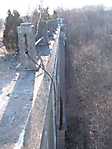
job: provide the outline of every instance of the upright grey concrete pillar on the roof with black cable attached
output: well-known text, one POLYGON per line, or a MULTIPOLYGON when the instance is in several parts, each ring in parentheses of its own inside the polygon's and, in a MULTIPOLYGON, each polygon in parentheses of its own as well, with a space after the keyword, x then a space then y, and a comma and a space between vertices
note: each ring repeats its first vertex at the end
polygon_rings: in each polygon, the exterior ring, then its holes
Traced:
POLYGON ((18 27, 18 47, 19 47, 19 60, 22 66, 26 69, 35 70, 36 66, 32 60, 25 54, 25 35, 27 38, 27 50, 29 55, 36 60, 35 49, 35 30, 31 23, 21 23, 18 27))

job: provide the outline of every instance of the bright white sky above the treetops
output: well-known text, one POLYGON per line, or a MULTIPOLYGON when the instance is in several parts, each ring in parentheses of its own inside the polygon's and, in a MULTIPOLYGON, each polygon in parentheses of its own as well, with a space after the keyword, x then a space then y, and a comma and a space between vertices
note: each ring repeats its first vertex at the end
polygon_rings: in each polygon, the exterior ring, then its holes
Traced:
POLYGON ((31 13, 41 2, 44 6, 55 9, 57 7, 63 8, 81 8, 86 5, 104 5, 112 7, 112 0, 0 0, 0 18, 5 18, 8 9, 17 9, 21 15, 31 13))

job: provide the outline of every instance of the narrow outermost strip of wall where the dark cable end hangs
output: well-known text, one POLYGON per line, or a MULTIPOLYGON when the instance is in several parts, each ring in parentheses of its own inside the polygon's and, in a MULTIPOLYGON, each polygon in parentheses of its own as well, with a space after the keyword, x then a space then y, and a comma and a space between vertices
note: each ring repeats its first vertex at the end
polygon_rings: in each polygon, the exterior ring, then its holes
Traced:
POLYGON ((57 55, 57 126, 59 128, 57 129, 57 148, 65 149, 65 33, 63 31, 60 32, 59 50, 57 55))

